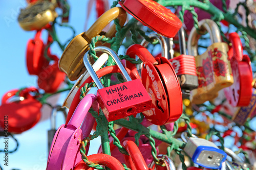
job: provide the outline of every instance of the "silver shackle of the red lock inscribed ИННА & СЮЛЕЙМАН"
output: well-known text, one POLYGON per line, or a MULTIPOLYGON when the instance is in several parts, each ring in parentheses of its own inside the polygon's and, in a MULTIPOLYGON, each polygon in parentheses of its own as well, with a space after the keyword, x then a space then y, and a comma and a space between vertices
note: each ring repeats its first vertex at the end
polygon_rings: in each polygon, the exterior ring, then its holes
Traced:
MULTIPOLYGON (((116 62, 116 65, 119 67, 120 72, 122 73, 124 79, 126 81, 132 81, 130 75, 128 74, 128 72, 126 71, 124 66, 122 65, 122 62, 121 62, 120 58, 118 57, 118 55, 116 54, 116 52, 114 52, 111 48, 106 47, 106 46, 97 46, 94 48, 94 50, 95 50, 95 52, 102 52, 102 53, 106 53, 106 54, 110 55, 113 58, 113 60, 116 62)), ((102 88, 104 88, 104 86, 101 83, 95 70, 93 69, 91 62, 89 61, 89 57, 90 56, 89 56, 89 51, 88 51, 83 56, 83 63, 86 66, 86 69, 88 70, 89 74, 91 75, 91 77, 92 77, 94 83, 96 84, 96 86, 98 87, 98 89, 102 89, 102 88)))

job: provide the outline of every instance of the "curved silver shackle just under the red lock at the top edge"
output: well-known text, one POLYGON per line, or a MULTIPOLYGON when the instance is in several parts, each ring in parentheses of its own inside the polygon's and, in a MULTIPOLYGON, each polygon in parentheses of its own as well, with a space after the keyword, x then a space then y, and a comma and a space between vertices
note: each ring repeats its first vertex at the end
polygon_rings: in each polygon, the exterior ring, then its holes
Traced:
MULTIPOLYGON (((153 33, 153 34, 148 35, 148 37, 150 37, 151 39, 157 39, 159 41, 159 43, 161 45, 162 57, 165 57, 168 59, 168 45, 167 45, 167 42, 166 42, 164 36, 162 36, 160 34, 153 33)), ((147 47, 147 45, 149 43, 150 42, 146 41, 146 39, 143 39, 140 44, 144 47, 147 47)))

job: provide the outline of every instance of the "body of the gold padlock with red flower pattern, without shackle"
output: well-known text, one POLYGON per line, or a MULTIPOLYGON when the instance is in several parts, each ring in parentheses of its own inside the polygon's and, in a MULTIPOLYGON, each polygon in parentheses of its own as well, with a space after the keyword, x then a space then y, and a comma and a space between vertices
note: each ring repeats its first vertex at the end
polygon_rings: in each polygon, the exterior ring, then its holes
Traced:
POLYGON ((202 104, 218 96, 218 91, 232 85, 233 76, 227 58, 228 45, 217 42, 202 55, 196 56, 198 88, 191 91, 190 100, 202 104))

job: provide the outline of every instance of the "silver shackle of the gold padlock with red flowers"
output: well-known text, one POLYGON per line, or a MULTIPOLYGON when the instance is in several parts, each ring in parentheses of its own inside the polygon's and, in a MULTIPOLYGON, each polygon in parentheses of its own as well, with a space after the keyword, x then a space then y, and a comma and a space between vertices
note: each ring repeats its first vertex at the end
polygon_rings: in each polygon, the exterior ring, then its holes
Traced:
MULTIPOLYGON (((198 23, 201 31, 207 31, 210 34, 211 44, 221 42, 221 33, 217 23, 211 19, 203 19, 198 23)), ((197 33, 197 29, 194 27, 188 36, 187 40, 187 52, 190 56, 198 56, 198 40, 200 34, 197 33)))

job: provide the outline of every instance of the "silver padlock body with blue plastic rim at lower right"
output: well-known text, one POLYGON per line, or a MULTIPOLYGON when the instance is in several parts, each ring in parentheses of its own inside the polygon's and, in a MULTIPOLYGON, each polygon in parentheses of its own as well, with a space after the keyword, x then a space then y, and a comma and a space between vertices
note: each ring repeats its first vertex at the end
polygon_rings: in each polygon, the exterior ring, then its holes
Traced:
POLYGON ((195 137, 188 138, 183 151, 194 163, 212 169, 220 168, 227 157, 227 154, 213 142, 195 137))

